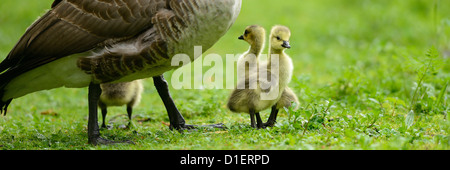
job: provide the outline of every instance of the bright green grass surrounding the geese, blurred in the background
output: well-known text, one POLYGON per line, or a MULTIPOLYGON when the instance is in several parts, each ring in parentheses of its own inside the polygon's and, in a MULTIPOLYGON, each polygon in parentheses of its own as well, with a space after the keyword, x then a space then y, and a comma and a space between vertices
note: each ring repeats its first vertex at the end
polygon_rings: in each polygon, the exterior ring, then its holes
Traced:
MULTIPOLYGON (((252 129, 248 115, 227 110, 230 90, 171 89, 188 123, 222 122, 229 129, 170 131, 148 79, 134 127, 119 128, 127 123, 125 108, 112 108, 108 120, 114 128, 101 131, 136 145, 87 144, 87 89, 61 88, 14 100, 0 117, 0 149, 450 148, 450 1, 243 1, 236 24, 207 53, 246 51, 237 37, 247 25, 291 28, 293 48, 287 53, 295 73, 289 86, 301 109, 282 111, 276 127, 252 129)), ((0 58, 50 5, 51 0, 1 2, 0 58)), ((165 74, 168 80, 171 74, 165 74)))

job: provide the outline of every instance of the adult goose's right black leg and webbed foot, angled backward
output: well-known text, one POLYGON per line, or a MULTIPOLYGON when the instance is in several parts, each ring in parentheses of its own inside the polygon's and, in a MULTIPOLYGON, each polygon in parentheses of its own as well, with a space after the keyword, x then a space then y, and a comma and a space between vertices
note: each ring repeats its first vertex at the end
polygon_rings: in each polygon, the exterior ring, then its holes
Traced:
POLYGON ((196 127, 213 127, 219 129, 225 129, 226 127, 223 124, 215 124, 215 125, 186 125, 186 121, 181 115, 180 111, 178 111, 177 106, 173 102, 173 99, 169 92, 169 85, 167 81, 164 79, 163 75, 153 77, 153 83, 155 84, 156 90, 158 91, 159 96, 161 97, 164 106, 166 107, 167 114, 169 115, 170 120, 170 129, 177 130, 186 130, 186 129, 195 129, 196 127))

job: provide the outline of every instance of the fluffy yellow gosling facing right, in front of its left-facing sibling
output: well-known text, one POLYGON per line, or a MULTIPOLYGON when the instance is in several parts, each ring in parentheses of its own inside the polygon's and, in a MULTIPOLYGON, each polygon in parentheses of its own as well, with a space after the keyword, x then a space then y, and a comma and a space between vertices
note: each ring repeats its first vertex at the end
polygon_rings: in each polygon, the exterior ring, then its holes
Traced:
POLYGON ((290 48, 290 36, 291 32, 285 26, 275 26, 272 28, 270 35, 270 54, 278 56, 278 58, 274 58, 274 61, 272 61, 273 56, 270 55, 268 62, 263 64, 262 67, 259 67, 259 69, 263 70, 259 72, 271 75, 272 82, 261 79, 258 71, 250 72, 245 81, 238 82, 238 87, 239 85, 242 87, 242 84, 245 84, 245 88, 236 88, 228 100, 227 106, 232 112, 245 112, 250 114, 251 126, 254 128, 265 128, 268 125, 268 123, 262 123, 259 112, 270 107, 276 107, 287 84, 291 81, 293 64, 291 58, 284 52, 285 49, 290 48), (272 62, 277 62, 274 64, 275 67, 272 67, 272 62), (251 79, 256 79, 257 86, 255 89, 248 88, 251 79), (263 89, 261 88, 262 86, 269 88, 263 89), (271 99, 265 99, 261 98, 263 93, 271 93, 276 96, 271 99), (257 119, 256 123, 255 116, 257 119))

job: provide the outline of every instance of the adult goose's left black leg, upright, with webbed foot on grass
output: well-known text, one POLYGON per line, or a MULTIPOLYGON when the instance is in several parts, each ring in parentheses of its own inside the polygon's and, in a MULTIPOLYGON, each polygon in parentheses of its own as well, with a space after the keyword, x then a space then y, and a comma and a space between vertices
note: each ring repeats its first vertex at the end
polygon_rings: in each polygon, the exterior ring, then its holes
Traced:
POLYGON ((116 143, 133 143, 131 141, 110 141, 100 137, 100 129, 98 128, 98 101, 102 89, 99 84, 91 83, 89 85, 89 121, 88 121, 88 142, 93 145, 99 144, 116 144, 116 143))

